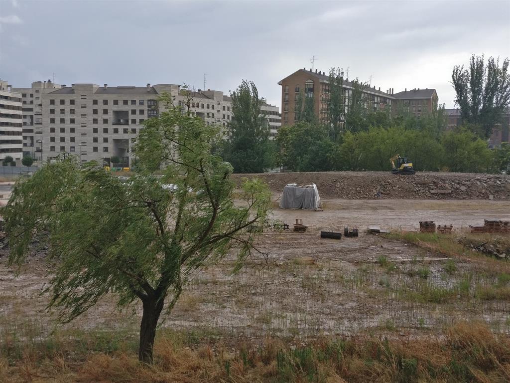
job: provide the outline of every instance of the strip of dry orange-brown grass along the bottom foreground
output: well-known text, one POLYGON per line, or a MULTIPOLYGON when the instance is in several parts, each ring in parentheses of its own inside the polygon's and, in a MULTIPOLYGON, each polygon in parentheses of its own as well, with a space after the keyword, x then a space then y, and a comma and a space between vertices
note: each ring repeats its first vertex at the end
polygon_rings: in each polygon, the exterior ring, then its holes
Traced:
MULTIPOLYGON (((93 336, 93 334, 90 334, 93 336)), ((476 323, 457 323, 444 339, 329 338, 291 345, 283 339, 242 343, 160 334, 155 364, 138 363, 133 349, 90 352, 77 344, 59 350, 28 348, 16 360, 0 355, 0 381, 201 382, 507 382, 510 338, 476 323), (262 342, 262 343, 260 343, 262 342)), ((292 342, 292 341, 291 341, 292 342)))

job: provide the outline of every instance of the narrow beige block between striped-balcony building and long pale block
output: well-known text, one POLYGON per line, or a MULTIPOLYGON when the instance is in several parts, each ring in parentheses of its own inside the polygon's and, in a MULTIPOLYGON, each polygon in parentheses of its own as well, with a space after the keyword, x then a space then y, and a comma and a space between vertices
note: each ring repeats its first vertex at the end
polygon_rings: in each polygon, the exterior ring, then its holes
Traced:
POLYGON ((23 111, 23 156, 41 160, 42 139, 42 94, 52 92, 61 86, 52 80, 33 82, 30 88, 13 88, 21 93, 23 111))

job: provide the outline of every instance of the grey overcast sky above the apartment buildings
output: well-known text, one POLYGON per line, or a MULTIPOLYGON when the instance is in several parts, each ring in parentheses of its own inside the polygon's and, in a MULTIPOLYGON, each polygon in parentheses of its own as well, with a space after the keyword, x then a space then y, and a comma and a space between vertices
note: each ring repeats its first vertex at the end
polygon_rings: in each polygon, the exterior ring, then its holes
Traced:
MULTIPOLYGON (((175 2, 0 0, 0 78, 13 86, 187 83, 228 94, 242 79, 281 106, 295 70, 349 67, 395 92, 436 88, 453 107, 455 64, 510 56, 510 1, 175 2)), ((501 59, 502 60, 502 59, 501 59)))

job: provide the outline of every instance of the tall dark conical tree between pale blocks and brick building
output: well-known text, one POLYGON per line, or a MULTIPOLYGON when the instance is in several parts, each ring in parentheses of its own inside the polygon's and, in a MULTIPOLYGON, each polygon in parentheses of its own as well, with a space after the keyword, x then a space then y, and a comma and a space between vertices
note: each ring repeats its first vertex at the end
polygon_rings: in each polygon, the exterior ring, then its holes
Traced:
POLYGON ((273 165, 269 123, 261 109, 264 102, 252 81, 243 80, 232 93, 234 117, 223 157, 232 163, 235 173, 263 173, 273 165))

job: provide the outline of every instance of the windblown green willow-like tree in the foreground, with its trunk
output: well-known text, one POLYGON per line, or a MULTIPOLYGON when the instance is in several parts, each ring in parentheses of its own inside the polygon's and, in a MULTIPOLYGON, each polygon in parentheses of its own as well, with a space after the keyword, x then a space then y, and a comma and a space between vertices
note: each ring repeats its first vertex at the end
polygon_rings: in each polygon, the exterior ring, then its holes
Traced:
MULTIPOLYGON (((169 95, 162 101, 169 105, 169 95)), ((134 148, 140 173, 129 183, 69 156, 18 181, 3 216, 10 264, 23 264, 34 237, 48 243, 55 275, 49 307, 60 309, 61 321, 108 292, 119 306, 139 299, 139 359, 151 363, 160 316, 170 312, 190 273, 233 245, 240 267, 263 228, 271 195, 259 180, 246 180, 242 202, 234 204, 232 165, 211 154, 219 127, 170 106, 144 125, 134 148), (153 172, 164 163, 159 179, 153 172)))

